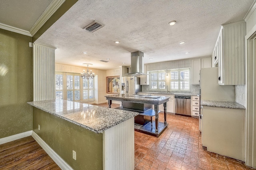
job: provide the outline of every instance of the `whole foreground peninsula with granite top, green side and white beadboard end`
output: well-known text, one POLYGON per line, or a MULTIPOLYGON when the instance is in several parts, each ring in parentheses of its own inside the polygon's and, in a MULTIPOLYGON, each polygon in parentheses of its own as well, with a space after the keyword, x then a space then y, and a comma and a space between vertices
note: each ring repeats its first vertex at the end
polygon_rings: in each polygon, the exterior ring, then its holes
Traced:
POLYGON ((137 112, 67 100, 28 104, 33 106, 32 136, 44 150, 52 150, 46 152, 54 161, 63 161, 58 164, 61 169, 134 170, 137 112))

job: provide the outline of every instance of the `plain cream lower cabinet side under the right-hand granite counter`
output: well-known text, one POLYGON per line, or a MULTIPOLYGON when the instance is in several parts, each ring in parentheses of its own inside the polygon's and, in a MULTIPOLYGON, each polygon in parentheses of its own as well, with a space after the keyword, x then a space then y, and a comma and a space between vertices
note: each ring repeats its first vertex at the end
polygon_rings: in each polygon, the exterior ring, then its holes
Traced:
POLYGON ((203 106, 201 139, 207 150, 245 160, 245 110, 203 106))

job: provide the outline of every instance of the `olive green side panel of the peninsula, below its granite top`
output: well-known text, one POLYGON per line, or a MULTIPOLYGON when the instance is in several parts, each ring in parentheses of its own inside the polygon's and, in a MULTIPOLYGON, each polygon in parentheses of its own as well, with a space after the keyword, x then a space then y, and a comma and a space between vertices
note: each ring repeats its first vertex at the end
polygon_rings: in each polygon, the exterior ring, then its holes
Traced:
POLYGON ((36 107, 33 107, 33 131, 74 170, 103 169, 102 133, 94 133, 36 107), (76 151, 76 160, 72 158, 72 150, 76 151))

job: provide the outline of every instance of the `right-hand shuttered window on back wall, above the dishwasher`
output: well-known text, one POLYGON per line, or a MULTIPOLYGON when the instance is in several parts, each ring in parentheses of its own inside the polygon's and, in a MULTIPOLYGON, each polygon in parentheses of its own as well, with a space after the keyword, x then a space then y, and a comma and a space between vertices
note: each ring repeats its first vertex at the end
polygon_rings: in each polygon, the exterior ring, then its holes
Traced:
POLYGON ((189 91, 190 90, 190 68, 170 70, 170 90, 189 91))

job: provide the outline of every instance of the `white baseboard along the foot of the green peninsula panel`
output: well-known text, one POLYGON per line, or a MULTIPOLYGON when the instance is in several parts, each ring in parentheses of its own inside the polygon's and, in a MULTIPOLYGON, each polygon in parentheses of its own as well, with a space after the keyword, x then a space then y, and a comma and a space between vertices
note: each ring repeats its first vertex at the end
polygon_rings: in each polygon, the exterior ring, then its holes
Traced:
POLYGON ((67 162, 65 162, 65 160, 63 160, 54 150, 52 150, 49 145, 47 145, 34 131, 32 131, 32 137, 52 158, 52 160, 60 167, 60 169, 73 170, 72 167, 67 162))

